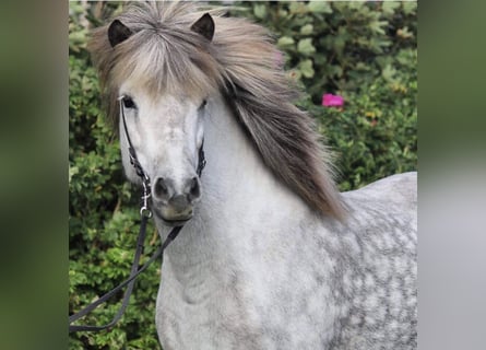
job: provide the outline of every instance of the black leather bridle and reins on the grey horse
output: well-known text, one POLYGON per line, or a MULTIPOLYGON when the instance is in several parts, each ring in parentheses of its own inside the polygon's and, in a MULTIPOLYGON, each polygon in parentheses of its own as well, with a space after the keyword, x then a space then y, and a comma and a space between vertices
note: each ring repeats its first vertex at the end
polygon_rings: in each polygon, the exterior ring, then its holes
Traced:
MULTIPOLYGON (((83 331, 83 330, 84 331, 99 331, 99 330, 104 330, 104 329, 115 326, 115 324, 121 318, 125 310, 128 306, 130 295, 133 291, 133 285, 135 283, 137 277, 139 277, 140 273, 145 271, 149 268, 149 266, 153 261, 155 261, 155 259, 157 259, 158 257, 161 257, 161 259, 162 259, 162 261, 161 261, 161 266, 162 266, 162 264, 164 262, 164 249, 170 244, 170 242, 173 242, 177 237, 177 235, 179 234, 180 230, 182 230, 182 226, 183 226, 183 225, 180 225, 180 226, 174 228, 170 231, 170 233, 168 234, 167 238, 165 238, 162 246, 158 247, 158 249, 151 256, 151 258, 139 269, 140 256, 142 255, 143 243, 145 241, 146 222, 150 218, 152 218, 152 211, 149 208, 149 199, 151 197, 151 179, 150 179, 149 175, 145 173, 145 171, 143 170, 142 165, 140 164, 139 159, 137 158, 135 149, 133 148, 133 144, 130 140, 130 135, 128 132, 127 121, 125 118, 125 109, 123 109, 123 104, 122 104, 123 97, 125 96, 118 97, 118 101, 120 102, 120 110, 121 110, 121 117, 122 117, 122 121, 123 121, 123 129, 125 129, 125 135, 126 135, 127 141, 128 141, 128 152, 130 155, 130 164, 132 164, 132 166, 135 168, 137 175, 140 176, 140 178, 142 180, 142 187, 143 187, 142 205, 140 208, 140 217, 142 219, 142 222, 140 224, 139 237, 137 238, 135 255, 133 257, 133 262, 132 262, 132 267, 130 270, 130 277, 128 279, 122 281, 120 284, 118 284, 112 290, 110 290, 109 292, 107 292, 106 294, 100 296, 95 302, 88 304, 87 306, 85 306, 84 308, 79 311, 78 313, 69 316, 69 332, 83 331), (127 287, 127 290, 125 291, 123 301, 121 303, 121 306, 110 323, 103 325, 103 326, 87 326, 87 325, 74 326, 74 325, 71 325, 73 322, 75 322, 75 320, 80 319, 81 317, 91 313, 98 305, 105 303, 108 299, 110 299, 112 295, 115 295, 115 293, 117 293, 120 289, 122 289, 126 285, 128 285, 128 287, 127 287)), ((199 154, 198 154, 199 161, 198 161, 198 168, 195 170, 195 172, 198 173, 199 177, 201 177, 202 170, 206 165, 203 145, 204 145, 204 140, 201 143, 201 147, 199 149, 199 154)))

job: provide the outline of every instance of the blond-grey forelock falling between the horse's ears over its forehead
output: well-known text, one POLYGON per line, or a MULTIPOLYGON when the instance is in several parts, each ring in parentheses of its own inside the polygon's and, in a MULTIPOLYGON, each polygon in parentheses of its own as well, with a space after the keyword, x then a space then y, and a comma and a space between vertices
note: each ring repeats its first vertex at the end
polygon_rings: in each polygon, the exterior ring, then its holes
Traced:
POLYGON ((166 92, 204 95, 218 90, 224 73, 208 39, 191 31, 201 13, 188 2, 134 2, 116 16, 132 32, 126 40, 111 47, 109 24, 93 31, 88 49, 114 126, 119 117, 118 90, 127 80, 145 86, 154 97, 166 92))

